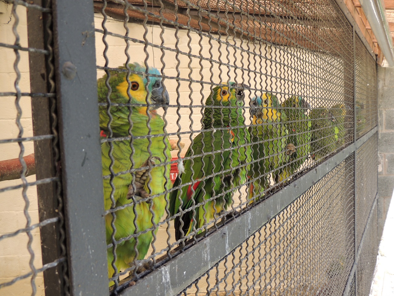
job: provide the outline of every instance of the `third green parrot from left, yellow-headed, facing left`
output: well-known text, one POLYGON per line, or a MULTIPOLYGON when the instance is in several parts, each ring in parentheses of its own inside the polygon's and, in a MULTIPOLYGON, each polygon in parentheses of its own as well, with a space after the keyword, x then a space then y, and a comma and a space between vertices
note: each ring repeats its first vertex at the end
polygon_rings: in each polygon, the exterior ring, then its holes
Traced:
POLYGON ((279 109, 281 104, 277 97, 265 92, 251 100, 251 116, 253 126, 249 127, 251 135, 254 163, 249 176, 248 198, 253 201, 264 195, 269 185, 269 172, 273 176, 279 174, 279 167, 289 159, 294 144, 288 144, 288 130, 285 122, 286 114, 279 109), (259 141, 263 141, 258 143, 259 141))

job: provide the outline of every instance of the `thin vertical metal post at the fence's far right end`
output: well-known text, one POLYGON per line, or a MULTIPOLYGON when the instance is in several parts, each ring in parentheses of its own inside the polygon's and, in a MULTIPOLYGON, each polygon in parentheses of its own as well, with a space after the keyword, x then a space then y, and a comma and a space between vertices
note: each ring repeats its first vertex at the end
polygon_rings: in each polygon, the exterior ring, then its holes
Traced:
MULTIPOLYGON (((356 31, 353 26, 353 141, 357 140, 356 117, 356 31)), ((357 149, 354 150, 354 260, 357 260, 357 149)), ((355 296, 357 296, 357 268, 354 270, 355 296)))

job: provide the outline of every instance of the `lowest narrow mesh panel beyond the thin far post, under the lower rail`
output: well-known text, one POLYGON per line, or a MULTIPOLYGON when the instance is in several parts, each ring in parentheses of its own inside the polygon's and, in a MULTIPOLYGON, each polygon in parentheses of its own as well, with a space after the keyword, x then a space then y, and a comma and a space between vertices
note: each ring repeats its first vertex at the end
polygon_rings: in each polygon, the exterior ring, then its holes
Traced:
POLYGON ((357 266, 357 295, 368 296, 372 278, 374 276, 379 240, 377 236, 377 206, 371 213, 372 219, 366 229, 364 244, 362 245, 359 263, 357 266))

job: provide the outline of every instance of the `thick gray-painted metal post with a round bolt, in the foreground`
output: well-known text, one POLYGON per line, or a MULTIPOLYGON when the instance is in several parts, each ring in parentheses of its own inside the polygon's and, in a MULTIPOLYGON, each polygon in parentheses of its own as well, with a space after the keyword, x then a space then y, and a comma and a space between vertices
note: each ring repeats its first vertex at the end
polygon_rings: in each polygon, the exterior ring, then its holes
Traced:
POLYGON ((93 1, 54 0, 54 53, 72 295, 108 295, 93 1))

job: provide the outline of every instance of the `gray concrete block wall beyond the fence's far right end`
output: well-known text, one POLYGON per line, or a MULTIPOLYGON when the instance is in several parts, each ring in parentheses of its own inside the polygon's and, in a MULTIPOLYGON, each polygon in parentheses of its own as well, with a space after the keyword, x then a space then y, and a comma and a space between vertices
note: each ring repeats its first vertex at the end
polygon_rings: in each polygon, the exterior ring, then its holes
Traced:
POLYGON ((378 232, 382 236, 394 188, 394 68, 377 69, 378 104, 378 232))

